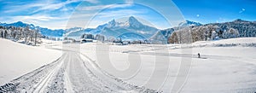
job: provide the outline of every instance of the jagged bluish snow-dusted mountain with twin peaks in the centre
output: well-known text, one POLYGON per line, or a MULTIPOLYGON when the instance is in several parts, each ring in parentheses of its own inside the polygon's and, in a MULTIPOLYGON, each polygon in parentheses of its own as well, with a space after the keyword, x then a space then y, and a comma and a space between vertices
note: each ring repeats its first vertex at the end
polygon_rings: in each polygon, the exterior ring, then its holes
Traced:
POLYGON ((159 31, 159 29, 154 28, 152 26, 143 25, 139 20, 135 17, 131 16, 125 22, 118 22, 116 20, 111 20, 106 24, 101 26, 97 26, 94 29, 84 29, 78 32, 72 32, 68 36, 81 36, 81 33, 91 33, 91 34, 102 34, 106 37, 122 37, 125 34, 127 36, 131 36, 137 34, 143 38, 150 38, 154 35, 155 32, 159 31), (131 35, 129 35, 131 33, 131 35))

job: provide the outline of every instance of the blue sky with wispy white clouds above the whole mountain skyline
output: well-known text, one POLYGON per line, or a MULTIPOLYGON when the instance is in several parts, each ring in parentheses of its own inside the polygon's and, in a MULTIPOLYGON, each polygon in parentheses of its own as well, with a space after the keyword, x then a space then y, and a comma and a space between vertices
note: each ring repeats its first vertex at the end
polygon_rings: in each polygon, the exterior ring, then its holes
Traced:
POLYGON ((183 20, 203 24, 256 20, 255 5, 255 0, 0 0, 0 22, 21 20, 36 26, 65 29, 96 27, 109 20, 134 15, 164 29, 183 20), (110 5, 113 3, 118 4, 110 5))

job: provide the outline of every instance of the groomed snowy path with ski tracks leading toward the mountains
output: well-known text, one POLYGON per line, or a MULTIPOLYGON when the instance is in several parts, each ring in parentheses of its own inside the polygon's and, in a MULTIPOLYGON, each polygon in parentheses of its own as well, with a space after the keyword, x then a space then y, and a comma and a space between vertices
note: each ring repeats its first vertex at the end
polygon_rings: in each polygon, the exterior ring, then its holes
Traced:
POLYGON ((4 86, 0 92, 155 92, 105 76, 92 68, 90 60, 84 61, 79 52, 73 50, 65 51, 58 60, 16 78, 9 84, 14 85, 4 86))

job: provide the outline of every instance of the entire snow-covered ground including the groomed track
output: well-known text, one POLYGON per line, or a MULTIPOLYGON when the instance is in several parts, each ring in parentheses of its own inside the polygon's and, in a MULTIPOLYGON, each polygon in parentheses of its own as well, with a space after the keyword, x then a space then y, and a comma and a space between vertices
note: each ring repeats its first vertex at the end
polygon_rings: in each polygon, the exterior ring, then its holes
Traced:
POLYGON ((175 90, 182 88, 182 93, 256 92, 256 38, 231 38, 194 44, 109 44, 109 49, 103 47, 106 45, 89 43, 62 46, 56 42, 32 47, 1 39, 0 76, 3 77, 3 84, 17 78, 11 82, 20 83, 17 90, 26 87, 23 90, 34 92, 158 90, 167 93, 173 87, 175 90), (61 49, 67 53, 55 61, 61 49), (197 58, 198 53, 201 58, 197 58), (50 64, 40 67, 47 63, 50 64), (113 67, 105 67, 109 64, 113 67), (18 78, 25 73, 28 74, 18 78), (4 74, 9 78, 5 78, 4 74))

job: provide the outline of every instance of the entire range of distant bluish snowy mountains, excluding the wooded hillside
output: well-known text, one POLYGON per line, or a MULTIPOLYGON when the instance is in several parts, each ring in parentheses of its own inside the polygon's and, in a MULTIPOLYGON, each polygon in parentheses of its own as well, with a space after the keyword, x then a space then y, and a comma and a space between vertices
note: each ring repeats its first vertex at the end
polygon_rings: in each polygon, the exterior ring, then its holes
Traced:
MULTIPOLYGON (((184 21, 180 23, 179 26, 199 26, 200 23, 193 21, 184 21)), ((124 22, 119 22, 116 20, 111 20, 106 24, 97 26, 96 28, 82 28, 82 27, 73 27, 69 29, 56 29, 52 30, 45 27, 35 26, 33 24, 27 24, 22 21, 17 21, 15 23, 0 23, 0 26, 16 26, 16 27, 26 27, 28 26, 30 29, 38 29, 41 34, 49 37, 62 37, 63 35, 67 35, 69 37, 80 37, 84 33, 91 34, 102 34, 106 37, 114 37, 114 38, 151 38, 154 36, 156 32, 162 32, 162 30, 154 28, 152 26, 143 25, 142 22, 137 20, 134 16, 128 18, 128 20, 124 22)), ((170 32, 166 32, 170 33, 170 32)), ((167 34, 166 34, 167 36, 167 34)))

